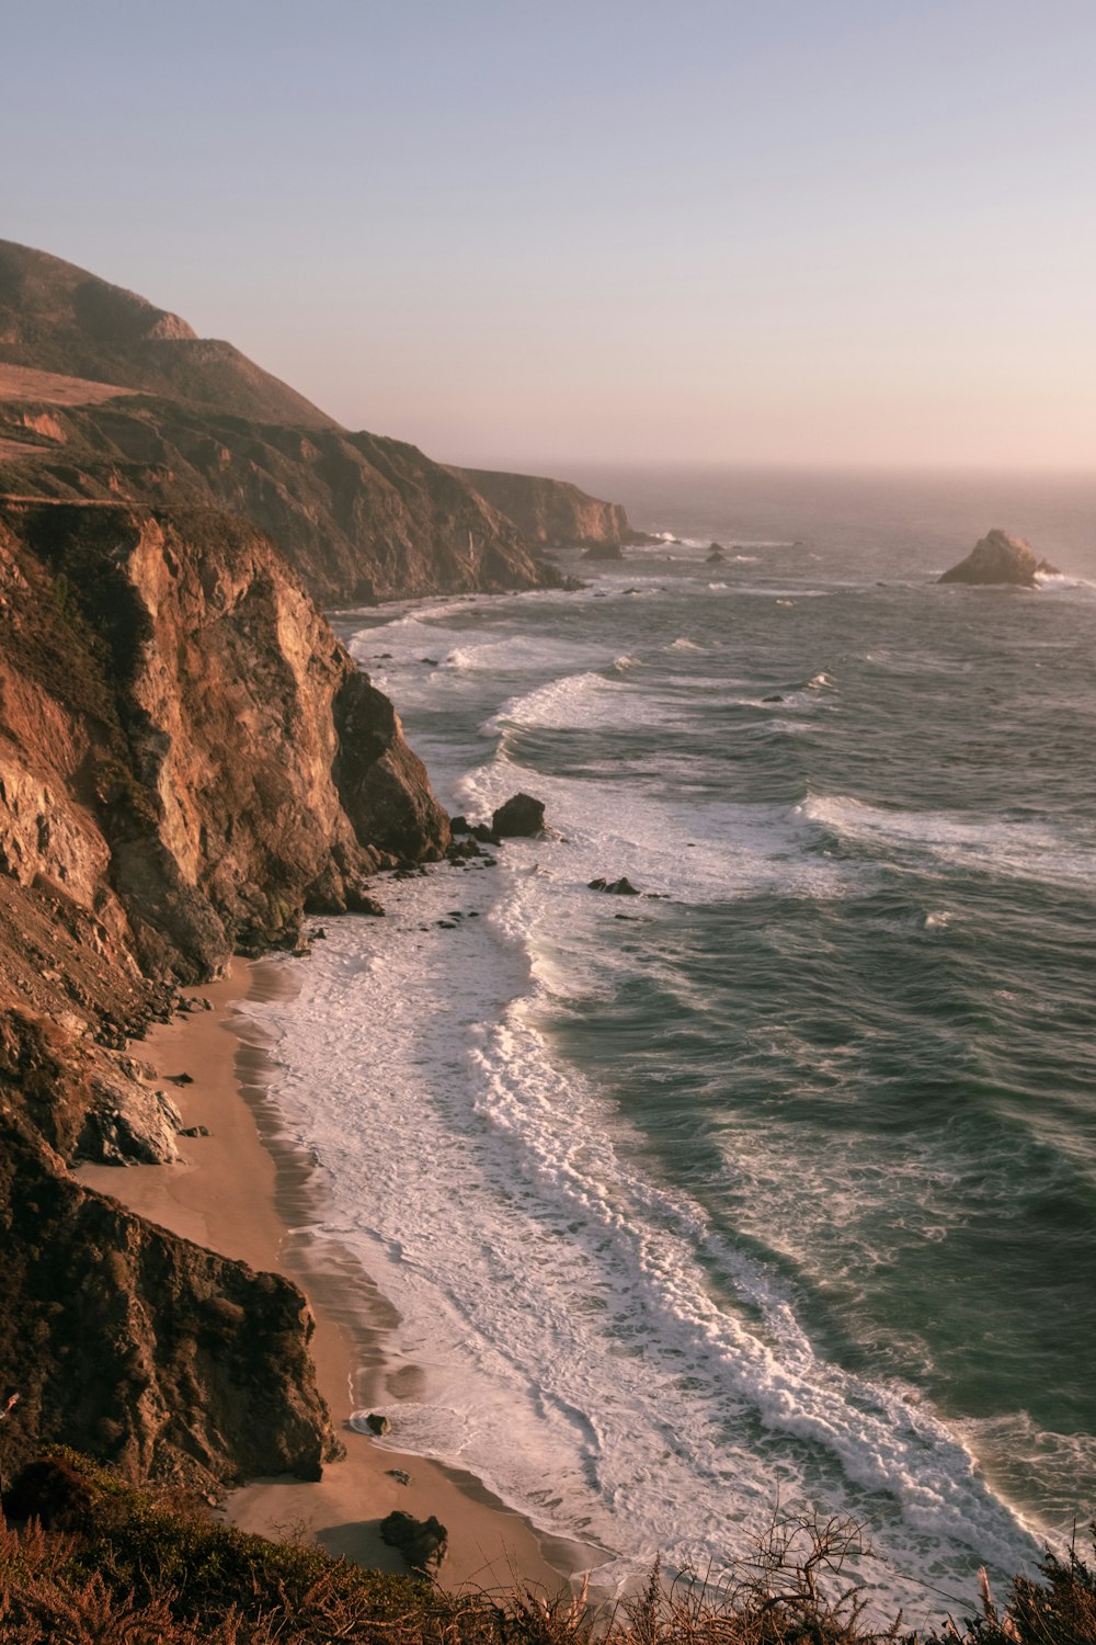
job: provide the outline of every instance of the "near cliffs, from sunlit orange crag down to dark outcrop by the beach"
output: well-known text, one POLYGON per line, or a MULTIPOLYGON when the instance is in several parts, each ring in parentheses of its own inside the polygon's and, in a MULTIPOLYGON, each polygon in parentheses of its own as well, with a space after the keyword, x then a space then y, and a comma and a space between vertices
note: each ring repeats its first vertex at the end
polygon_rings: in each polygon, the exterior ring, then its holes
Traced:
POLYGON ((391 704, 246 521, 0 500, 0 1380, 41 1441, 194 1479, 334 1441, 288 1281, 66 1166, 173 1158, 128 1036, 449 824, 391 704))

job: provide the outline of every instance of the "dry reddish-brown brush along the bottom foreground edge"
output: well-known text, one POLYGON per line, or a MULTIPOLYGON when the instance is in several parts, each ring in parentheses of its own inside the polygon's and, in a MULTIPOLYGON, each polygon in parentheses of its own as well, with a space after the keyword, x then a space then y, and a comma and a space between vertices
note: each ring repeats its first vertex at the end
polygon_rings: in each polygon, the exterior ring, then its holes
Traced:
MULTIPOLYGON (((269 1543, 217 1523, 184 1494, 135 1490, 79 1456, 41 1457, 5 1495, 0 1638, 44 1645, 1094 1645, 1096 1569, 1071 1551, 989 1587, 914 1630, 869 1620, 850 1574, 859 1531, 774 1523, 715 1587, 656 1569, 611 1610, 583 1596, 514 1587, 445 1596, 363 1571, 319 1548, 269 1543)), ((1096 1531, 1096 1527, 1093 1527, 1096 1531)))

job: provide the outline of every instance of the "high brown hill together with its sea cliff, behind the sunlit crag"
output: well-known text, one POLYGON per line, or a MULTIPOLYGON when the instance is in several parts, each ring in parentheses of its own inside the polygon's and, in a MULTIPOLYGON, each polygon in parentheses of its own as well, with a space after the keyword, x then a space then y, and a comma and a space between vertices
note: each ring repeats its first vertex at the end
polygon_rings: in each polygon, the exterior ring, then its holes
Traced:
POLYGON ((560 582, 458 470, 347 433, 230 344, 5 240, 0 490, 230 508, 325 605, 560 582))

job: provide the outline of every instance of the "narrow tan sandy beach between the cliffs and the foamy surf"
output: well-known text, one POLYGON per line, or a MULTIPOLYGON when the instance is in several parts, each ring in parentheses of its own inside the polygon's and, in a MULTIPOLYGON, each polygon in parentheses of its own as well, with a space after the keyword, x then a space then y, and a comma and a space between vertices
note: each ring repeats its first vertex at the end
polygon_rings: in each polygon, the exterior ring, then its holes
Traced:
MULTIPOLYGON (((347 1454, 325 1464, 315 1482, 261 1479, 230 1492, 225 1517, 245 1531, 302 1536, 360 1564, 403 1571, 403 1558, 380 1538, 380 1522, 394 1508, 416 1518, 434 1513, 449 1530, 442 1587, 555 1592, 603 1555, 539 1531, 475 1476, 350 1428, 350 1415, 381 1397, 385 1331, 396 1314, 355 1257, 309 1234, 319 1221, 314 1161, 281 1133, 268 1096, 266 1035, 237 1008, 243 999, 284 999, 291 989, 278 962, 237 961, 223 980, 200 989, 210 1010, 156 1025, 140 1056, 168 1084, 184 1124, 209 1127, 209 1137, 181 1138, 177 1165, 79 1171, 151 1222, 253 1268, 286 1273, 307 1295, 317 1382, 347 1454), (182 1073, 192 1084, 173 1082, 182 1073), (389 1471, 409 1474, 411 1484, 389 1471)), ((385 1398, 399 1393, 389 1383, 385 1398)))

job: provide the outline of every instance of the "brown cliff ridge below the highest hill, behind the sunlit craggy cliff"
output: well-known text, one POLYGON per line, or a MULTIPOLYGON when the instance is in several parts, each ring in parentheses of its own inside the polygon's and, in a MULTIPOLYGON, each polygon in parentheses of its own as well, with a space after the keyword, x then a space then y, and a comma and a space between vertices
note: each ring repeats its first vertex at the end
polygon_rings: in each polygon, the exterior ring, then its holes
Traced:
MULTIPOLYGON (((46 378, 38 392, 56 388, 46 378)), ((325 605, 560 581, 465 480, 394 439, 138 396, 0 401, 0 444, 5 434, 7 490, 228 508, 273 536, 325 605)))

